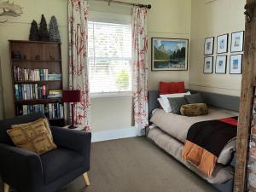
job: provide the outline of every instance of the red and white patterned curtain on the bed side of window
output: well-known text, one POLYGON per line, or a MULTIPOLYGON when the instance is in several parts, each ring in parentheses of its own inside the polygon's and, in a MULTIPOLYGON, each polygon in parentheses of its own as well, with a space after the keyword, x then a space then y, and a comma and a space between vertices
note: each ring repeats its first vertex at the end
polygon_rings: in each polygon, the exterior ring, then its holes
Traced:
POLYGON ((132 96, 135 126, 148 125, 148 33, 146 8, 133 8, 132 14, 132 96))

